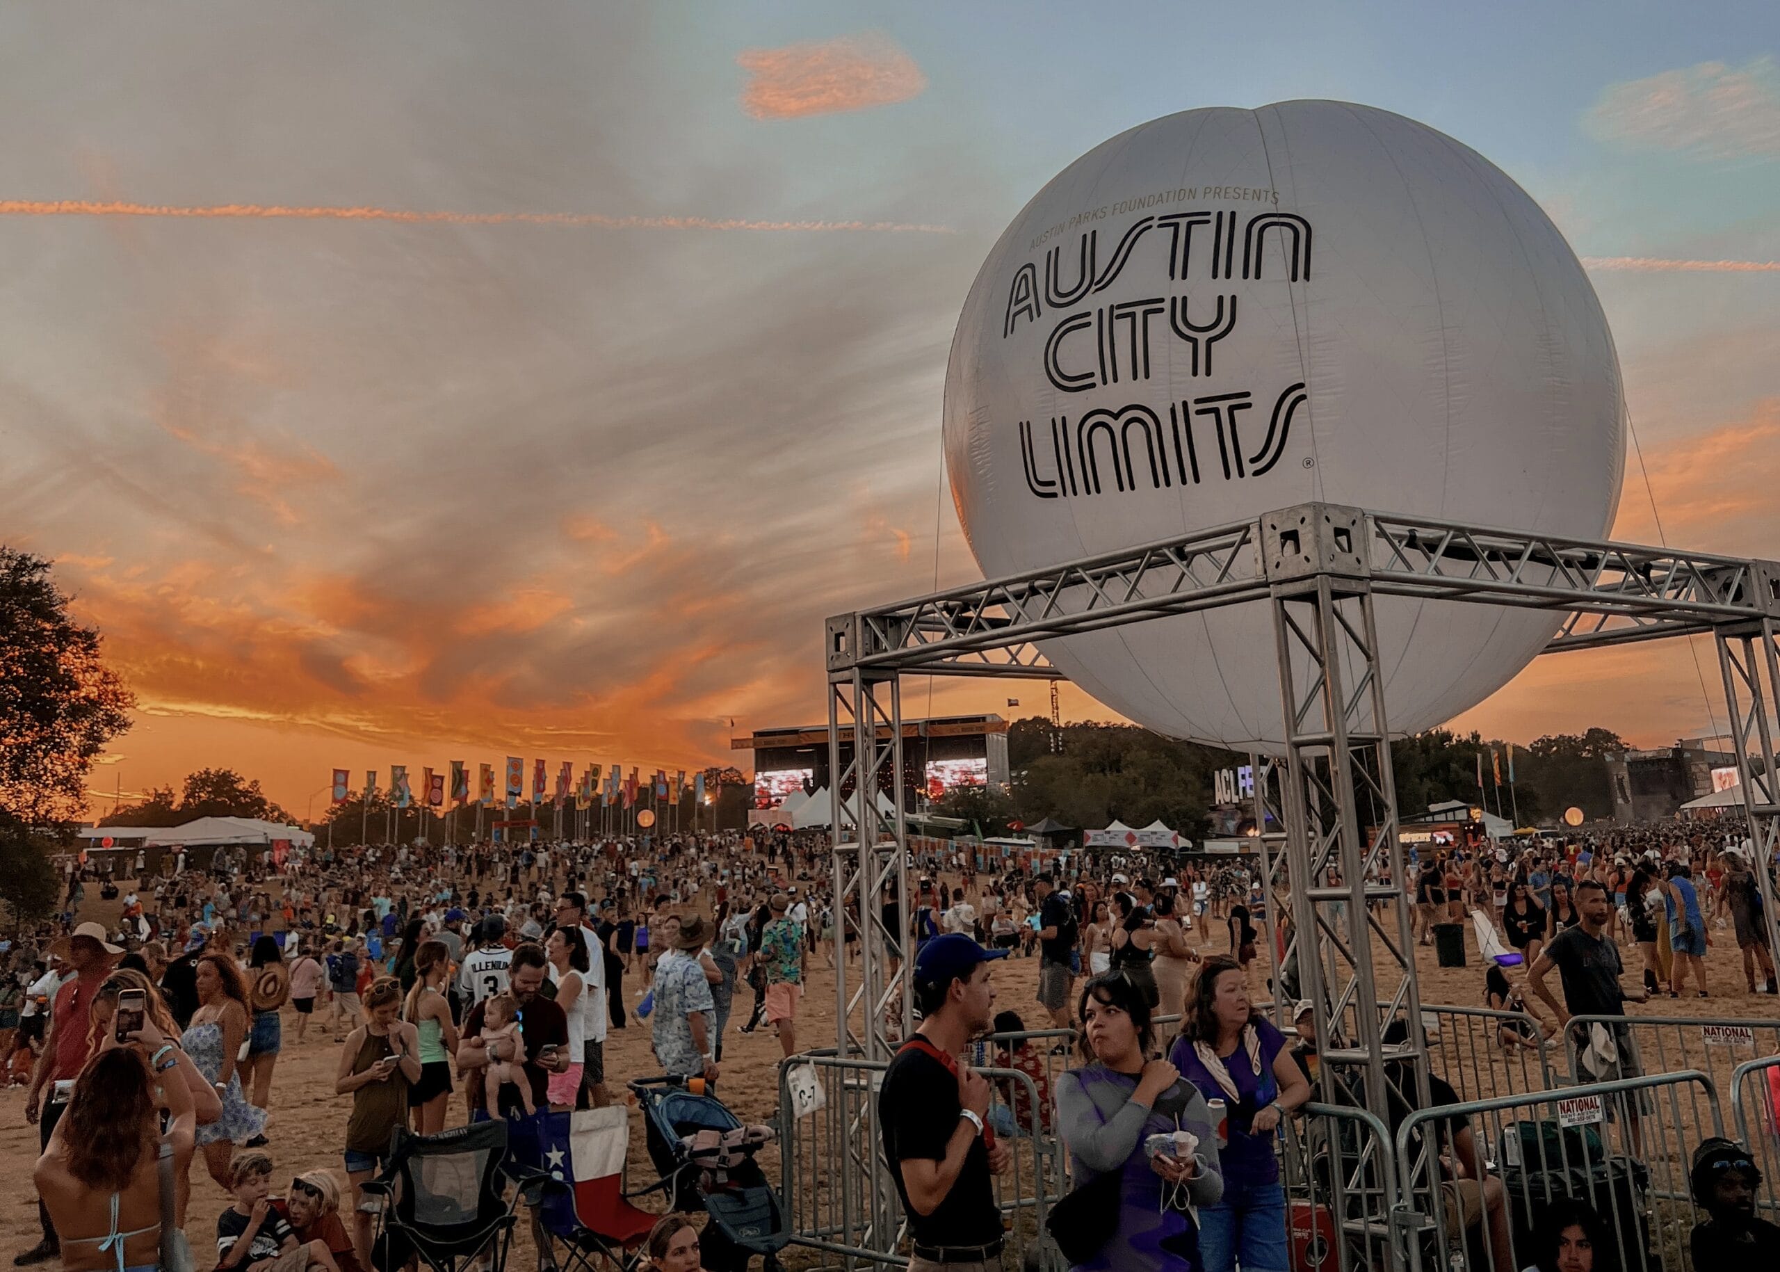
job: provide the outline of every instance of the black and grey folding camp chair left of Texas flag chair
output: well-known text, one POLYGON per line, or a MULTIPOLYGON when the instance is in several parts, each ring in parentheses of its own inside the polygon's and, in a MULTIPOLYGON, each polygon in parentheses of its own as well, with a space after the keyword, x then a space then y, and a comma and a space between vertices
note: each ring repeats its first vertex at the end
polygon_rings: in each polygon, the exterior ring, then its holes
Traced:
POLYGON ((388 1169, 363 1185, 379 1197, 372 1265, 395 1272, 420 1256, 433 1272, 457 1272, 472 1260, 504 1272, 514 1203, 506 1197, 507 1124, 459 1126, 440 1135, 390 1137, 388 1169))

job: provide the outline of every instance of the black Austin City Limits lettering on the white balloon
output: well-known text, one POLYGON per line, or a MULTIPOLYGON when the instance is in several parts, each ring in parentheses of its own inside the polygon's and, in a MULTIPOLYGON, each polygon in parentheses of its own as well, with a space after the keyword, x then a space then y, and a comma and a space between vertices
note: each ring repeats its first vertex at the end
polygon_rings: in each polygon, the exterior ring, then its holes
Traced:
MULTIPOLYGON (((1180 187, 1134 203, 1168 207, 1198 192, 1180 187)), ((1228 196, 1221 187, 1218 192, 1228 196)), ((1241 192, 1276 198, 1273 191, 1241 192)), ((1212 392, 1210 376, 1218 344, 1244 315, 1237 281, 1310 278, 1310 221, 1271 208, 1193 208, 1143 216, 1118 239, 1102 241, 1098 228, 1086 228, 1047 249, 1048 237, 1034 241, 1034 255, 1007 280, 1002 338, 1036 328, 1043 335, 1031 342, 1038 371, 1057 394, 1070 395, 1064 403, 1079 406, 1036 424, 1016 422, 1027 492, 1077 499, 1271 472, 1285 454, 1292 417, 1308 401, 1305 383, 1218 385, 1212 392), (1166 273, 1169 287, 1136 299, 1102 299, 1127 267, 1148 267, 1153 283, 1166 273), (1180 383, 1182 369, 1187 383, 1203 381, 1205 392, 1177 395, 1169 387, 1180 383), (1152 376, 1166 401, 1145 392, 1152 376)), ((1271 328, 1276 315, 1264 312, 1258 321, 1271 328)))

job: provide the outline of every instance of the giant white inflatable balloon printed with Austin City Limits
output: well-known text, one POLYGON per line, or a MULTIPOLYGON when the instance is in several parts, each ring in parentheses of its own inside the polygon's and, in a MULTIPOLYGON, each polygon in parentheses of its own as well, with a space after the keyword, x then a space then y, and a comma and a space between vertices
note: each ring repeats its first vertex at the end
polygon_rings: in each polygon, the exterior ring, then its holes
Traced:
MULTIPOLYGON (((1342 102, 1187 110, 1082 155, 995 244, 945 379, 990 577, 1307 501, 1598 538, 1623 419, 1600 303, 1540 207, 1451 137, 1342 102)), ((1394 732, 1476 705, 1558 627, 1376 613, 1394 732)), ((1264 604, 1045 652, 1161 732, 1282 745, 1264 604)))

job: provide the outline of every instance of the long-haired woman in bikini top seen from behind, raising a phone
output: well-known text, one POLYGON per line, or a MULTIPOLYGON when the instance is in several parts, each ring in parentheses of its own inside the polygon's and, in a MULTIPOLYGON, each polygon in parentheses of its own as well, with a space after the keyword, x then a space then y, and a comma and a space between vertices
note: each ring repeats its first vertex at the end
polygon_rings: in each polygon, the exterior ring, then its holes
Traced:
POLYGON ((37 1195, 69 1272, 155 1272, 164 1256, 160 1156, 171 1154, 176 1172, 190 1167, 192 1092, 183 1081, 164 1083, 171 1121, 162 1137, 155 1074, 180 1064, 173 1044, 148 1019, 125 1044, 107 1033, 100 1046, 37 1158, 37 1195))

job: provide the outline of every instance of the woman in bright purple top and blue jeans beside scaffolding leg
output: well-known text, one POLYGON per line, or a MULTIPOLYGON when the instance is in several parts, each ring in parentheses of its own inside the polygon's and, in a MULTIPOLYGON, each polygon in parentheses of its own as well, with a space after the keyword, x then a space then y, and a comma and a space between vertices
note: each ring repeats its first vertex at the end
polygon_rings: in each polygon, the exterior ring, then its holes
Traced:
POLYGON ((1194 978, 1185 1028, 1168 1058, 1207 1101, 1221 1099, 1228 1138, 1223 1197, 1200 1208, 1205 1272, 1287 1272, 1285 1190, 1273 1154, 1280 1119, 1310 1099, 1310 1081, 1248 998, 1248 976, 1225 957, 1194 978))

